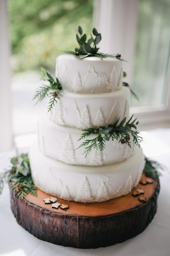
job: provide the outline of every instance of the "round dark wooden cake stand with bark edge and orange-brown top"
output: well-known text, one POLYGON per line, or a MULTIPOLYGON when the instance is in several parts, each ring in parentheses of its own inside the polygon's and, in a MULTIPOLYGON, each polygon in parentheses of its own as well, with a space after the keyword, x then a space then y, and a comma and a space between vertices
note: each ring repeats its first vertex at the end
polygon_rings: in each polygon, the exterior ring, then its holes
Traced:
MULTIPOLYGON (((146 179, 143 174, 142 179, 146 179)), ((44 204, 49 194, 37 190, 38 197, 25 199, 11 190, 11 209, 19 225, 37 238, 75 248, 98 248, 122 243, 137 236, 149 225, 157 210, 159 182, 141 185, 146 202, 140 196, 127 196, 102 203, 77 203, 58 198, 69 205, 66 211, 44 204)), ((136 189, 137 189, 136 188, 136 189)))

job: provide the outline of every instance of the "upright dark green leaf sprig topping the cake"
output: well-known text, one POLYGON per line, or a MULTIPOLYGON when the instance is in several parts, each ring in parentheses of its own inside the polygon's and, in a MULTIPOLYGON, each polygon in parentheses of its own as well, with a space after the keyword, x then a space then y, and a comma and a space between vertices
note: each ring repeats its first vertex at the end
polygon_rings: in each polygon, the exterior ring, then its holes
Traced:
POLYGON ((86 57, 94 56, 94 57, 99 57, 101 60, 107 57, 123 60, 121 58, 120 53, 116 55, 111 55, 111 54, 105 54, 105 53, 99 52, 99 47, 97 47, 97 44, 99 44, 101 41, 101 34, 98 33, 96 28, 93 28, 92 30, 93 35, 90 34, 91 37, 89 39, 87 39, 86 34, 83 34, 83 29, 80 26, 78 26, 78 29, 76 29, 76 31, 77 31, 76 39, 77 39, 79 48, 76 47, 75 51, 65 51, 65 53, 72 54, 77 59, 84 59, 86 57))

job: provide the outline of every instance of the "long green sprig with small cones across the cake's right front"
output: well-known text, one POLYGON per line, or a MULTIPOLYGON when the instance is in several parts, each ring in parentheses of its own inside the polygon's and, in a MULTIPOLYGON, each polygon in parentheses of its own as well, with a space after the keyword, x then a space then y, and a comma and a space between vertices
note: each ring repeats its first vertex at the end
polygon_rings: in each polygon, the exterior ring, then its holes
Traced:
MULTIPOLYGON (((121 144, 126 144, 131 148, 130 136, 133 139, 133 142, 140 147, 140 143, 143 141, 143 138, 140 136, 140 133, 137 131, 137 125, 139 122, 137 118, 132 121, 133 115, 126 122, 127 117, 125 117, 120 124, 120 118, 114 123, 108 125, 108 127, 100 128, 87 128, 82 130, 83 133, 79 140, 85 139, 90 135, 96 134, 97 136, 91 140, 84 140, 78 148, 84 147, 85 157, 91 152, 92 148, 100 149, 103 151, 106 147, 106 142, 110 139, 117 140, 121 144)), ((78 141, 79 141, 78 140, 78 141)))

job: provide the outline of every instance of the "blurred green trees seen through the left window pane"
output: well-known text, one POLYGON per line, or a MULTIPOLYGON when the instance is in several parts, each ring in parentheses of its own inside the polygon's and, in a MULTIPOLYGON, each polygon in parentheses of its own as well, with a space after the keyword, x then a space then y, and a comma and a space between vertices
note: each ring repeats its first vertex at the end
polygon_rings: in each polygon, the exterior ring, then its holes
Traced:
POLYGON ((9 0, 14 73, 54 69, 56 56, 77 46, 75 28, 92 30, 92 0, 9 0))

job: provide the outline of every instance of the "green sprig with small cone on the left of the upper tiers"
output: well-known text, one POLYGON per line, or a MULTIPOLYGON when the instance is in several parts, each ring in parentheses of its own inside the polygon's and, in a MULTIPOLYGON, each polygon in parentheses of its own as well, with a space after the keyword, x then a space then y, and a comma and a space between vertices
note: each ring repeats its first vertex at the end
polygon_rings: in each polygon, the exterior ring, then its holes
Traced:
POLYGON ((46 71, 45 68, 41 68, 41 80, 48 81, 49 85, 43 84, 37 88, 33 100, 41 102, 46 97, 49 97, 48 112, 54 107, 57 100, 62 97, 62 86, 57 77, 55 79, 46 71))

